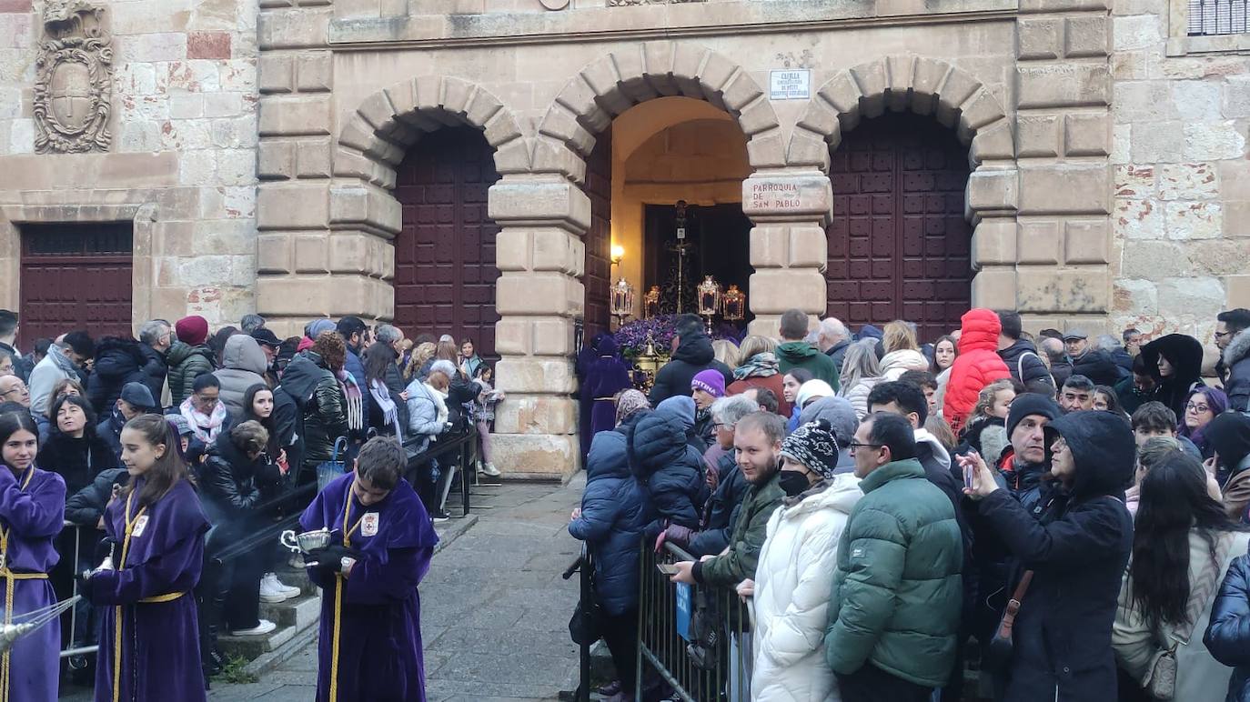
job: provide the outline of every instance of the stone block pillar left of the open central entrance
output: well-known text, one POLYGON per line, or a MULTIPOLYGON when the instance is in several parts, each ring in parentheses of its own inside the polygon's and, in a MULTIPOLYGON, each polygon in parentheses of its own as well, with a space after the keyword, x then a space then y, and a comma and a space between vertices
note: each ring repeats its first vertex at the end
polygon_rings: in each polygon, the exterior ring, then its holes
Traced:
POLYGON ((490 189, 500 226, 495 264, 495 465, 509 475, 564 477, 580 461, 574 319, 585 306, 581 274, 590 199, 562 175, 505 175, 490 189))

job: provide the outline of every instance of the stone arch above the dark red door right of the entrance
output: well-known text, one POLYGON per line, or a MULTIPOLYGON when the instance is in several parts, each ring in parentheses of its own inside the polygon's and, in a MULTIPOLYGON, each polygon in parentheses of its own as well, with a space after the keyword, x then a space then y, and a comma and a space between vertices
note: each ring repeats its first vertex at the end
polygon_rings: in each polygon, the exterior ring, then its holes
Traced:
POLYGON ((842 70, 816 91, 786 149, 791 166, 829 170, 829 151, 861 119, 886 110, 934 115, 955 129, 975 169, 986 160, 1014 160, 1011 122, 999 100, 975 77, 924 56, 885 56, 842 70))

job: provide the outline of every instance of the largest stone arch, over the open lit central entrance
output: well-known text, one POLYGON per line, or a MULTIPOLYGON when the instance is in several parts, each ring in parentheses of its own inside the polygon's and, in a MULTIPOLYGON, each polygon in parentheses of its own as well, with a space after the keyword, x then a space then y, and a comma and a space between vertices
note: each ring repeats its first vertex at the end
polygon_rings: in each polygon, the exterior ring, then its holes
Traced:
POLYGON ((725 110, 746 135, 754 169, 785 165, 772 102, 740 65, 704 46, 650 41, 601 56, 572 76, 539 122, 534 169, 580 182, 596 135, 625 110, 661 96, 695 97, 725 110))

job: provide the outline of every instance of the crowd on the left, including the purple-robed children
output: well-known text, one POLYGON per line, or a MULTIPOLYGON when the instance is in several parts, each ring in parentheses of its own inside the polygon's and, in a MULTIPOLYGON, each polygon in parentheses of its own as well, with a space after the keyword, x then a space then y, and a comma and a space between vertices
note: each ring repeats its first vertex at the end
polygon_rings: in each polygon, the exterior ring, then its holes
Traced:
MULTIPOLYGON (((70 668, 86 682, 94 665, 98 700, 202 698, 225 663, 218 636, 274 631, 260 603, 300 596, 278 571, 310 562, 276 538, 224 553, 299 515, 341 540, 310 568, 334 593, 322 601, 334 635, 322 632, 322 655, 339 675, 322 672, 322 687, 370 698, 362 691, 378 682, 365 672, 385 663, 416 698, 419 635, 398 662, 365 643, 392 648, 388 636, 419 631, 416 583, 460 467, 426 455, 472 427, 475 468, 500 475, 490 425, 504 393, 471 340, 406 339, 351 316, 310 321, 291 339, 258 315, 210 334, 188 316, 149 321, 139 339, 69 331, 22 353, 18 329, 0 310, 6 617, 76 586, 85 601, 69 645, 100 647, 70 668), (368 511, 351 518, 352 505, 368 511)), ((20 640, 2 662, 5 698, 55 700, 61 648, 55 627, 20 640), (10 665, 24 671, 11 683, 10 665)))

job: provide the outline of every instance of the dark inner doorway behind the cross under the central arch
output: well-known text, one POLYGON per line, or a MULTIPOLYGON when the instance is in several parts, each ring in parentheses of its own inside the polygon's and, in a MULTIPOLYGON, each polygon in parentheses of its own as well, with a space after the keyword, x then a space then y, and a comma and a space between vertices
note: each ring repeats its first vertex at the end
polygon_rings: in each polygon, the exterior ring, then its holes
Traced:
MULTIPOLYGON (((645 292, 652 285, 659 285, 660 311, 678 311, 678 252, 676 244, 678 212, 674 205, 646 205, 645 240, 646 261, 642 267, 645 292)), ((681 311, 696 312, 695 286, 704 276, 712 276, 725 290, 730 285, 748 294, 751 267, 751 220, 742 214, 738 202, 725 205, 690 205, 686 209, 686 266, 682 271, 681 311)), ((748 312, 746 325, 752 316, 748 312)))

